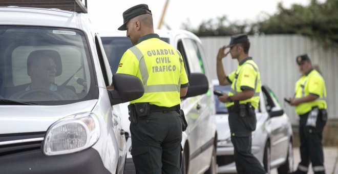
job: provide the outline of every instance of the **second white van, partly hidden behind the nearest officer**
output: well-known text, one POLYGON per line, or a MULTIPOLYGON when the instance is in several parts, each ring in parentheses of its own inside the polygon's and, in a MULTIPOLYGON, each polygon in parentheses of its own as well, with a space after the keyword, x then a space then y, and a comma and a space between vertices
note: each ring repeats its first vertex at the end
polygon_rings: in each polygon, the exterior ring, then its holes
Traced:
MULTIPOLYGON (((200 39, 191 32, 184 30, 155 30, 162 40, 168 42, 180 51, 183 57, 186 74, 189 78, 187 96, 181 99, 181 108, 185 113, 188 127, 183 132, 183 163, 182 173, 216 173, 217 129, 215 114, 213 84, 206 77, 209 70, 200 39), (201 76, 202 74, 202 76, 201 76), (205 79, 205 81, 203 81, 205 79), (197 95, 203 83, 207 92, 197 95)), ((115 73, 123 53, 132 47, 125 31, 100 33, 102 44, 109 59, 112 72, 115 73)), ((123 129, 130 135, 128 120, 128 103, 120 104, 123 129)), ((128 155, 125 173, 135 173, 131 152, 131 138, 127 139, 128 155)))

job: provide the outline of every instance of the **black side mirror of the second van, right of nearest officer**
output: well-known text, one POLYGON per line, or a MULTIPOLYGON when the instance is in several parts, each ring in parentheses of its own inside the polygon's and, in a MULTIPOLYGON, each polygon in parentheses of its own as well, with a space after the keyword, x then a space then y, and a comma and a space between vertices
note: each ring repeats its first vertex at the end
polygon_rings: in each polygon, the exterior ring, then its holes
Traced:
POLYGON ((183 98, 205 94, 209 90, 209 82, 202 73, 191 73, 189 75, 189 86, 186 96, 183 98))

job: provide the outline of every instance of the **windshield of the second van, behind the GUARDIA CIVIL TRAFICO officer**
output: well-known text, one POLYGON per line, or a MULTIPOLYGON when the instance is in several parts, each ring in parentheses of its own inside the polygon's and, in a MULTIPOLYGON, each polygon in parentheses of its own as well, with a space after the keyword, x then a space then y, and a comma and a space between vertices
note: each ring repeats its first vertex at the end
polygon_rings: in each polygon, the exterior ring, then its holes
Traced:
MULTIPOLYGON (((115 74, 124 52, 133 47, 132 42, 128 37, 101 37, 101 40, 112 73, 115 74)), ((161 40, 169 42, 168 38, 161 38, 161 40)))

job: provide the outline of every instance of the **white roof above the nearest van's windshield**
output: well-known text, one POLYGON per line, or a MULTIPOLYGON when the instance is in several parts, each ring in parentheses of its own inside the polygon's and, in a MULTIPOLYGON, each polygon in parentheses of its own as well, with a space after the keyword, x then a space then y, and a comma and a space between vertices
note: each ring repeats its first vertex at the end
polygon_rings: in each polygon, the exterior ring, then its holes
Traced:
POLYGON ((81 28, 82 15, 85 14, 60 9, 9 6, 0 7, 0 24, 81 28))

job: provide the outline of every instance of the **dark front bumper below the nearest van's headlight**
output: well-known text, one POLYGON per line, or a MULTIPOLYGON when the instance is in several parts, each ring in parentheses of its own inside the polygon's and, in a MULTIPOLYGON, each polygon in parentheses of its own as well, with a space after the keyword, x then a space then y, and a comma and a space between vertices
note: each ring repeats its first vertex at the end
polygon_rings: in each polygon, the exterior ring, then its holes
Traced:
POLYGON ((111 174, 104 167, 98 152, 93 148, 78 153, 56 156, 46 156, 41 150, 25 151, 6 156, 0 155, 0 173, 111 174))

